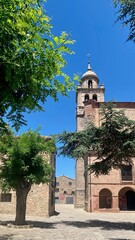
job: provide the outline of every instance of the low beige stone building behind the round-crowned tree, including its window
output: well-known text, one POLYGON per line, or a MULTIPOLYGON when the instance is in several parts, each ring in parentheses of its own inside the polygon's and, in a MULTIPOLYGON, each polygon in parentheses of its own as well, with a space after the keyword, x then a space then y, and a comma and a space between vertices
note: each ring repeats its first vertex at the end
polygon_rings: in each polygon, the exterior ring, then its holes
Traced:
MULTIPOLYGON (((49 156, 55 169, 55 154, 49 156)), ((0 190, 0 214, 16 212, 16 192, 3 193, 0 190)), ((48 184, 32 185, 27 197, 26 215, 49 217, 55 213, 55 176, 48 184)))

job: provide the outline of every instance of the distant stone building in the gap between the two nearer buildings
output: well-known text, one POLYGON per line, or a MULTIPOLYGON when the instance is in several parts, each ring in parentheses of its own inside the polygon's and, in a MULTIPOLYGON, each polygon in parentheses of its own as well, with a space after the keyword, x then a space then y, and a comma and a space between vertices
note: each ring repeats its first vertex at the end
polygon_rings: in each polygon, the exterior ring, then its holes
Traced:
POLYGON ((75 180, 66 176, 56 178, 55 202, 73 204, 75 194, 75 180))

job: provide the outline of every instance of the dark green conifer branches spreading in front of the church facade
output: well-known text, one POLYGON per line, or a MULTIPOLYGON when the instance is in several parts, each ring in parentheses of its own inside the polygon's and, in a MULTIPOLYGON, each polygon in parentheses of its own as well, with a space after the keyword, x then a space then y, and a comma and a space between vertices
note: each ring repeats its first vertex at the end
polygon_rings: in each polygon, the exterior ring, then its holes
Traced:
POLYGON ((87 169, 100 174, 108 174, 112 168, 132 164, 135 156, 135 122, 129 120, 123 111, 117 111, 109 103, 101 110, 102 124, 95 127, 91 123, 85 130, 62 133, 58 141, 62 144, 60 154, 72 158, 85 158, 95 154, 95 162, 87 169))

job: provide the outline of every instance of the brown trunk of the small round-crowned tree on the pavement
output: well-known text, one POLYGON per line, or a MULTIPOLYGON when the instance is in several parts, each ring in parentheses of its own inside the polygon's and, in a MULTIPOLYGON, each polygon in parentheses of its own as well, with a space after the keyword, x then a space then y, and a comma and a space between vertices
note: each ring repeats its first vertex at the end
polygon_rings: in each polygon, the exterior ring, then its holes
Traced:
POLYGON ((25 217, 26 217, 26 201, 27 195, 31 189, 31 184, 19 184, 16 189, 16 225, 25 225, 25 217))

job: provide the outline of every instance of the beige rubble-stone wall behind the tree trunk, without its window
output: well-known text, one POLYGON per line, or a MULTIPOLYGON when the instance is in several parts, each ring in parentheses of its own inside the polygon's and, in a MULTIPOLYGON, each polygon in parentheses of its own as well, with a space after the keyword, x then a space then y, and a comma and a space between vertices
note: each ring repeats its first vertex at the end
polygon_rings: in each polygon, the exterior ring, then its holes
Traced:
MULTIPOLYGON (((50 190, 50 184, 32 186, 27 197, 26 215, 48 217, 54 214, 55 205, 54 201, 51 200, 50 190)), ((53 189, 51 191, 53 192, 53 189)), ((10 193, 12 196, 11 202, 0 202, 0 213, 15 214, 16 193, 14 191, 10 193)))

